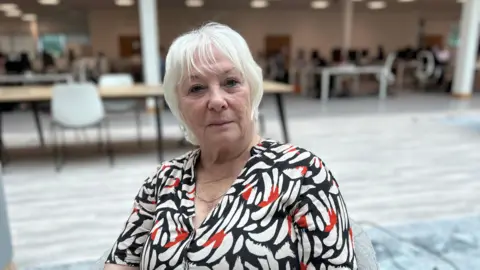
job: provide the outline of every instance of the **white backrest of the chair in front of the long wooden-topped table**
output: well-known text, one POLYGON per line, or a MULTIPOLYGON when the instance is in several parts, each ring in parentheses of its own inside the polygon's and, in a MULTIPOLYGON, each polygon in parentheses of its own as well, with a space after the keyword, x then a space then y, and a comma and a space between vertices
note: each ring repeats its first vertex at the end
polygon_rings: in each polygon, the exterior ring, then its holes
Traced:
POLYGON ((64 127, 88 127, 105 117, 100 94, 91 83, 55 85, 51 108, 53 121, 64 127))

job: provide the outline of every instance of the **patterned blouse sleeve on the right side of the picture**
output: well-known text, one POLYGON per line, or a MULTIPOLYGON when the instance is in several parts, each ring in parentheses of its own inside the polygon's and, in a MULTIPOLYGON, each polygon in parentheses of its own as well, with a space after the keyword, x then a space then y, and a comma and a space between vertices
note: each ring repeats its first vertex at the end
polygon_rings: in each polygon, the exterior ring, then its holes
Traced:
POLYGON ((313 157, 293 212, 301 269, 357 269, 353 232, 337 182, 313 157))

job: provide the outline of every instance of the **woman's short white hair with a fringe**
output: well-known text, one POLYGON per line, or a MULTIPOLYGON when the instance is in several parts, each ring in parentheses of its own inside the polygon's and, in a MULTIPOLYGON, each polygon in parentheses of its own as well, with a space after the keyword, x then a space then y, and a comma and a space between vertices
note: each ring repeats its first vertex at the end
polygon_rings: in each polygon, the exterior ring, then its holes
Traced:
POLYGON ((245 39, 232 28, 208 23, 204 26, 181 35, 170 46, 166 57, 166 72, 163 81, 165 100, 173 115, 180 121, 187 141, 198 145, 198 140, 185 124, 178 106, 178 87, 199 70, 195 60, 211 66, 215 59, 213 48, 226 56, 240 72, 250 87, 251 117, 257 119, 258 107, 263 96, 262 69, 255 62, 245 39))

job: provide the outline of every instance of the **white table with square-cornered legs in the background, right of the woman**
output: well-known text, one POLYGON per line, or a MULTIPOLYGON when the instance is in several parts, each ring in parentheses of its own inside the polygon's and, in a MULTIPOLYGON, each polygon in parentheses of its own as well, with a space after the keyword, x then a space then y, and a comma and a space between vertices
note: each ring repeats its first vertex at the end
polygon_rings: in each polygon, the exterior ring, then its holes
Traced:
POLYGON ((379 78, 378 98, 385 99, 387 97, 387 70, 384 66, 336 66, 323 68, 322 73, 322 101, 328 100, 328 92, 330 89, 331 75, 355 75, 376 74, 379 78))

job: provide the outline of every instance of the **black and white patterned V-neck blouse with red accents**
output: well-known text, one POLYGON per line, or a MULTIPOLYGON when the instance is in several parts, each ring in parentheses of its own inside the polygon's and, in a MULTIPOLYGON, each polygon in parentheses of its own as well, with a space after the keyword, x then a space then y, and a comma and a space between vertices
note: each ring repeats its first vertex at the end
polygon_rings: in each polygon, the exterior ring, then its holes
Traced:
POLYGON ((252 147, 197 230, 193 150, 147 178, 106 263, 140 269, 357 269, 345 202, 312 153, 271 140, 252 147))

